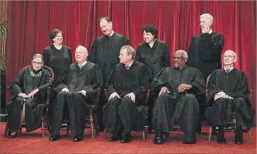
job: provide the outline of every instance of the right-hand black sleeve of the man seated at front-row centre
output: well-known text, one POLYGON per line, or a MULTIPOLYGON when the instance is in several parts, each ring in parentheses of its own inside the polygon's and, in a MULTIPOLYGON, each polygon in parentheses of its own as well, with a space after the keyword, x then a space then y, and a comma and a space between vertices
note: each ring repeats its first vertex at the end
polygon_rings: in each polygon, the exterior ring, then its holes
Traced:
POLYGON ((146 67, 145 66, 142 67, 140 72, 141 72, 141 75, 139 77, 140 87, 132 91, 137 97, 144 96, 144 94, 146 94, 147 90, 149 89, 149 79, 146 75, 147 74, 146 67))

